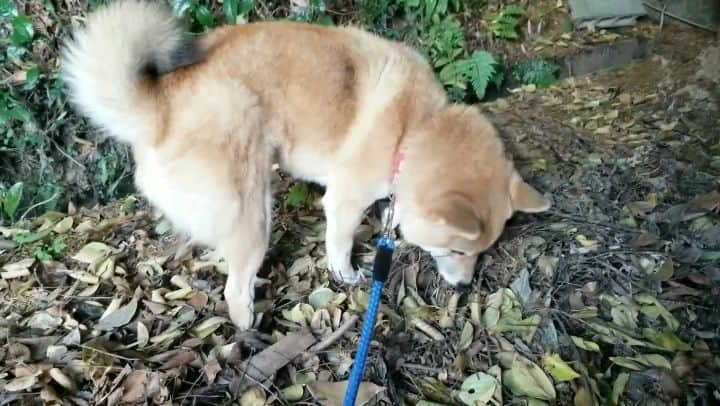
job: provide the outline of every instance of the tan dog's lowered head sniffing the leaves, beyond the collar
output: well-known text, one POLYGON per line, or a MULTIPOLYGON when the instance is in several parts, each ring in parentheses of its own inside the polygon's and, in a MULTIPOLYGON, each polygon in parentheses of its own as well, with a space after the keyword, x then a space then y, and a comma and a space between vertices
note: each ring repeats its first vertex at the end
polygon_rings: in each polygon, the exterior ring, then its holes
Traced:
POLYGON ((496 129, 475 108, 434 115, 406 151, 397 185, 403 237, 429 252, 453 286, 470 284, 478 256, 514 213, 550 208, 505 158, 496 129))

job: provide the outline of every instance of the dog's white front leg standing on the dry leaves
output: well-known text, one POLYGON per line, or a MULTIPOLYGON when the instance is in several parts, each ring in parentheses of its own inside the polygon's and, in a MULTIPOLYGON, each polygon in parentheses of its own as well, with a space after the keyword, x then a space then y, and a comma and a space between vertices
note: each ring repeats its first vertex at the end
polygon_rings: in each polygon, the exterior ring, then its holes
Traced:
POLYGON ((362 275, 350 263, 355 230, 362 221, 365 209, 372 203, 347 189, 328 185, 322 199, 327 230, 325 250, 328 267, 339 282, 355 284, 362 275))

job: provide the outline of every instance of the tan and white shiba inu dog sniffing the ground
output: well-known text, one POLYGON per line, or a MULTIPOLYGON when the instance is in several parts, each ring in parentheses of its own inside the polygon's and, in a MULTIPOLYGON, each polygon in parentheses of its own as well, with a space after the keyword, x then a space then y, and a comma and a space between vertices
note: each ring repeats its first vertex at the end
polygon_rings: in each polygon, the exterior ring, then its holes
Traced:
POLYGON ((455 286, 472 281, 513 213, 550 206, 419 53, 360 29, 267 22, 186 41, 163 5, 122 0, 87 18, 62 64, 77 109, 132 147, 142 193, 226 259, 241 329, 253 321, 276 160, 326 187, 329 268, 349 283, 354 231, 390 193, 393 226, 455 286))

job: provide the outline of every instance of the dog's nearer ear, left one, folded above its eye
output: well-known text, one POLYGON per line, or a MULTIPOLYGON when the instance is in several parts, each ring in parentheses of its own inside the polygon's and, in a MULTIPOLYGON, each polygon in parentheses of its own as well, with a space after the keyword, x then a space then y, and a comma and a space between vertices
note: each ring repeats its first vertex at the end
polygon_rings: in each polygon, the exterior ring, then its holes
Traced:
POLYGON ((470 199, 459 193, 446 193, 431 202, 427 212, 431 221, 452 229, 468 240, 480 237, 483 224, 470 199))

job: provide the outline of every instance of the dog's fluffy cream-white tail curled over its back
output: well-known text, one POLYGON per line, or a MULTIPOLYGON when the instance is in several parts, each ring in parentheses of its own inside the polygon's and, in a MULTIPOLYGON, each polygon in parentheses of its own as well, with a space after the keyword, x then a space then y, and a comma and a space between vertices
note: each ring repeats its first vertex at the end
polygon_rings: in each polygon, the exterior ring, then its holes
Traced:
POLYGON ((91 14, 63 50, 70 100, 93 124, 118 139, 152 142, 157 77, 185 50, 182 30, 158 3, 120 0, 91 14))

